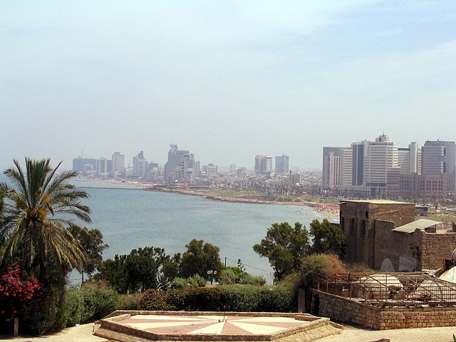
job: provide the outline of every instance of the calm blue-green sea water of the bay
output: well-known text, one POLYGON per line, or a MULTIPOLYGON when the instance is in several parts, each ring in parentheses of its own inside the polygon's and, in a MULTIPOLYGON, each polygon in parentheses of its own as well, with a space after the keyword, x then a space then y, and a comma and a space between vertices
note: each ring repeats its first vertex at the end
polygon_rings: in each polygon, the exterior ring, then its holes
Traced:
POLYGON ((266 236, 271 224, 301 222, 309 227, 312 219, 325 218, 310 207, 217 202, 197 196, 123 190, 118 187, 124 185, 104 182, 76 180, 74 184, 90 195, 83 200, 92 209, 92 223, 87 227, 100 229, 109 244, 103 259, 146 246, 164 248, 171 255, 182 253, 192 239, 202 239, 219 247, 220 259, 224 262, 227 257, 228 266, 236 266, 241 259, 246 271, 264 276, 269 283, 269 262, 252 247, 266 236))

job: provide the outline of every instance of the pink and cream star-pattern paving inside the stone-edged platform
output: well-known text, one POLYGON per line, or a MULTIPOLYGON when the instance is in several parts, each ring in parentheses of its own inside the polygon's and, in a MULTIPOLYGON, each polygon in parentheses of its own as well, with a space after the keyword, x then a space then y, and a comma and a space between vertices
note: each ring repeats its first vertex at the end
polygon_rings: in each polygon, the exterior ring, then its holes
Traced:
POLYGON ((309 324, 288 317, 183 315, 137 315, 118 323, 158 334, 217 335, 265 335, 309 324))

